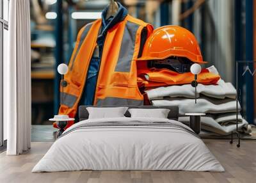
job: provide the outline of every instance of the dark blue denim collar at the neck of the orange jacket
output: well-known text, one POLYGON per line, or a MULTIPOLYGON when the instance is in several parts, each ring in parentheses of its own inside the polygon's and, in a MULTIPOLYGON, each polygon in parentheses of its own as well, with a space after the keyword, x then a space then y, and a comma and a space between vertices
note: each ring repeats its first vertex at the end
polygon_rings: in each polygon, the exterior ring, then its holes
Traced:
POLYGON ((118 22, 122 22, 122 20, 125 19, 125 17, 128 14, 128 10, 126 8, 124 8, 124 6, 122 6, 121 3, 118 3, 118 11, 115 15, 115 17, 113 17, 110 21, 106 20, 106 15, 108 12, 108 6, 106 8, 104 8, 103 12, 102 12, 102 33, 105 31, 108 31, 108 29, 113 28, 113 26, 115 26, 116 24, 118 24, 118 22))

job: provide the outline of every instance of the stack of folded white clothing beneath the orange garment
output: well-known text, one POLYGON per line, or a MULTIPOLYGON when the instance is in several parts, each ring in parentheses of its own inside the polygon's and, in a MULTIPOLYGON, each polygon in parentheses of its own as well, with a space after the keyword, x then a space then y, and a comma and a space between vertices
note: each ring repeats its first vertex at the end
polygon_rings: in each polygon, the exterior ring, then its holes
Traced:
MULTIPOLYGON (((217 72, 215 67, 210 68, 217 72)), ((236 119, 238 117, 239 129, 246 131, 248 122, 236 111, 241 110, 236 105, 236 89, 231 83, 225 83, 222 79, 216 85, 198 84, 196 88, 191 84, 159 87, 145 91, 148 99, 154 106, 179 106, 179 121, 189 123, 189 116, 185 113, 205 113, 201 117, 202 129, 215 134, 227 135, 236 131, 236 119)))

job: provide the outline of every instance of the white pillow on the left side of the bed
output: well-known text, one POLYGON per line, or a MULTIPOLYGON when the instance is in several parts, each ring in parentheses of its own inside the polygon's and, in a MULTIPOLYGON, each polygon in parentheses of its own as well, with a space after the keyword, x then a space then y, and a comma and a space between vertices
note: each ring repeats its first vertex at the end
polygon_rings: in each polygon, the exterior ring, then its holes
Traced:
POLYGON ((89 119, 96 118, 120 118, 125 117, 124 114, 128 107, 86 107, 89 113, 89 119))

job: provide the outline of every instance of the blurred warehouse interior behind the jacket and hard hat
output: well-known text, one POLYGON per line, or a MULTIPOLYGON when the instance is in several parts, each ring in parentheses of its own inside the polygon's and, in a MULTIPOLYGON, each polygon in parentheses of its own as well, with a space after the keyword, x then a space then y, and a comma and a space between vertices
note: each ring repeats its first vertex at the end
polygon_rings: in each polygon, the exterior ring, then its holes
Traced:
MULTIPOLYGON (((236 61, 253 60, 253 0, 123 0, 129 14, 154 25, 183 26, 200 44, 206 66, 215 65, 220 76, 236 86, 236 61)), ((108 0, 31 0, 31 71, 33 125, 51 124, 58 113, 60 76, 56 66, 68 63, 80 28, 99 19, 108 0)), ((256 7, 256 6, 255 6, 256 7)), ((256 23, 255 23, 256 24, 256 23)), ((256 30, 254 28, 254 30, 256 30)), ((252 64, 244 64, 253 73, 252 64)), ((255 66, 254 66, 255 67, 255 66)), ((256 67, 255 67, 256 68, 256 67)), ((253 76, 237 77, 241 104, 253 123, 253 76)), ((256 75, 256 74, 255 74, 256 75)), ((255 84, 253 84, 255 83, 255 84)))

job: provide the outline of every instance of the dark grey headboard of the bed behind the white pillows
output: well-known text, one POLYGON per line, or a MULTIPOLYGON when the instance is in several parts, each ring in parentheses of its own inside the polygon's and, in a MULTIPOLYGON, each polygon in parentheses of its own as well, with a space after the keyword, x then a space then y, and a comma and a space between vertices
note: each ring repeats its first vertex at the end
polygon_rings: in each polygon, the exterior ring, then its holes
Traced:
MULTIPOLYGON (((95 106, 79 106, 79 122, 83 120, 87 120, 89 113, 86 109, 86 107, 95 107, 95 106)), ((104 107, 124 107, 124 106, 104 106, 104 107)), ((177 106, 162 106, 162 107, 156 107, 156 106, 125 106, 129 108, 139 108, 139 109, 170 109, 170 112, 168 114, 168 119, 170 120, 178 120, 179 118, 179 107, 177 106)), ((129 111, 125 113, 126 117, 131 117, 131 114, 129 111)))

